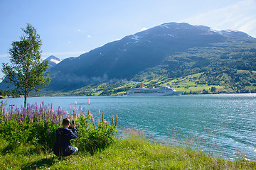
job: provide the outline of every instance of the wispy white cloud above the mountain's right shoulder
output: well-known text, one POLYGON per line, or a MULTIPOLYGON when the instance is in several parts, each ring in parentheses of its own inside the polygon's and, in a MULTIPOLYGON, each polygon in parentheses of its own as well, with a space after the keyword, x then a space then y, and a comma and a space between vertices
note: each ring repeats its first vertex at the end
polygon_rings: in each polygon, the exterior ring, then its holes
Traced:
POLYGON ((255 0, 243 0, 230 6, 186 18, 183 22, 212 28, 240 30, 256 38, 255 11, 255 0))

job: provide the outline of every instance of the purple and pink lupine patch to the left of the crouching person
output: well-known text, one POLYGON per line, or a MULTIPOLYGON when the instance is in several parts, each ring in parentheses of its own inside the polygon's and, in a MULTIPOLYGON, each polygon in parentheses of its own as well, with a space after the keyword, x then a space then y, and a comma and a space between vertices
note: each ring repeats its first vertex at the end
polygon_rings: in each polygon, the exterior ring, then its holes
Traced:
POLYGON ((5 108, 2 110, 0 136, 9 141, 9 145, 17 147, 31 143, 45 149, 53 147, 55 130, 60 125, 60 115, 42 105, 37 107, 28 104, 28 108, 11 106, 7 111, 5 108))

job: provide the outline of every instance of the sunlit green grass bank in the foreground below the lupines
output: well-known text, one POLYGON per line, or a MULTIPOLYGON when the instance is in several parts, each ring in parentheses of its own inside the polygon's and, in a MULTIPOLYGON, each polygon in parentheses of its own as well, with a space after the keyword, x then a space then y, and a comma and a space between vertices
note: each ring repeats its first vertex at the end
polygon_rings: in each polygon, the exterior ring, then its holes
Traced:
POLYGON ((256 169, 256 162, 214 158, 187 147, 152 143, 130 134, 91 155, 86 152, 58 159, 33 145, 8 149, 0 141, 0 169, 256 169))

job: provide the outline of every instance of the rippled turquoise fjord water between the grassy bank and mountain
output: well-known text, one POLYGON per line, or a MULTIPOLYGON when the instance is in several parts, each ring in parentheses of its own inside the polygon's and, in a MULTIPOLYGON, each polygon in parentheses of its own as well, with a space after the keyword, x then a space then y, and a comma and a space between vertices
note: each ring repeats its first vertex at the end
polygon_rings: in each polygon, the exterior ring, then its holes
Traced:
MULTIPOLYGON (((149 140, 191 145, 225 159, 245 156, 255 160, 256 94, 28 98, 28 103, 42 101, 66 111, 77 101, 78 107, 90 109, 95 120, 99 109, 105 117, 117 114, 119 130, 137 128, 149 140)), ((23 98, 7 102, 19 107, 23 98)))

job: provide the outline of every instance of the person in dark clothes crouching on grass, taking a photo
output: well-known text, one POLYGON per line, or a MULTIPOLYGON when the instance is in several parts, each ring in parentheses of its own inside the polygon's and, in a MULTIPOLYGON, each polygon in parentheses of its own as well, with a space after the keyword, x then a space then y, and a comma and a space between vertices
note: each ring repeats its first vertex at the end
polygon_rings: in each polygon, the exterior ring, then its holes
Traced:
POLYGON ((70 140, 77 137, 75 122, 71 123, 68 118, 63 119, 63 128, 56 130, 56 140, 53 146, 53 153, 58 157, 67 157, 78 152, 77 147, 70 145, 70 140))

